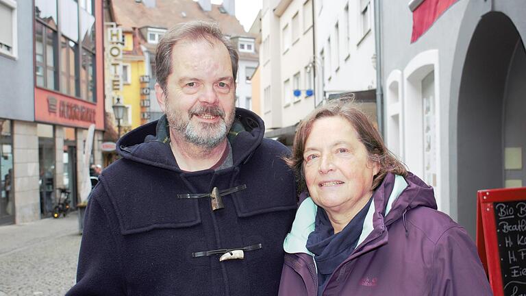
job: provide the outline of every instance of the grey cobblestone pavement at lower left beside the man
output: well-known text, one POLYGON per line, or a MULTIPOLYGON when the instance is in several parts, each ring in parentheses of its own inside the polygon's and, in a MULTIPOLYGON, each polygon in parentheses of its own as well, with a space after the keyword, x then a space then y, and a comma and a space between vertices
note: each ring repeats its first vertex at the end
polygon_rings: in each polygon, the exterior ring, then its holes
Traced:
POLYGON ((75 283, 78 217, 0 226, 0 296, 64 295, 75 283))

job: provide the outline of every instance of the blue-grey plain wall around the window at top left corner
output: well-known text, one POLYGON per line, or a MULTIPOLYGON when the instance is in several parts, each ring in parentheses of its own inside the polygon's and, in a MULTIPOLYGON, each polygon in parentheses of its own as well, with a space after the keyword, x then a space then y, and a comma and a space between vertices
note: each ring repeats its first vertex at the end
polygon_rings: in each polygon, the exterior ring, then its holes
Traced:
POLYGON ((18 58, 0 55, 0 118, 33 121, 33 5, 32 1, 15 2, 18 58))

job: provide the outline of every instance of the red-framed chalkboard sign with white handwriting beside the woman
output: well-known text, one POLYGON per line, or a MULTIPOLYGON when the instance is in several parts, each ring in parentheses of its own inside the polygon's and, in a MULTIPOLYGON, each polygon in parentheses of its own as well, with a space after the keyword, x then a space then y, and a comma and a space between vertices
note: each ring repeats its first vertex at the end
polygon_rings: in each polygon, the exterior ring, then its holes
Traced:
POLYGON ((477 248, 495 296, 526 295, 526 187, 479 190, 477 248))

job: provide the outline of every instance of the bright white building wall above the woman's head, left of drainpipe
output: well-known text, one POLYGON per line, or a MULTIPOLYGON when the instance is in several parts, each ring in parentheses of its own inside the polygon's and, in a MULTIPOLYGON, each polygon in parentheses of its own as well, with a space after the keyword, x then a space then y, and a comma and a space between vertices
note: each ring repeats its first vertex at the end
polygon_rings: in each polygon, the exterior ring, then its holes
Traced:
POLYGON ((316 55, 322 49, 327 63, 328 40, 331 40, 331 67, 325 66, 325 93, 376 88, 374 1, 368 7, 370 29, 362 32, 360 1, 336 0, 330 5, 318 3, 316 18, 316 55), (336 29, 338 25, 338 29, 336 29), (338 32, 338 36, 336 36, 338 32), (338 46, 336 46, 338 45, 338 46))

